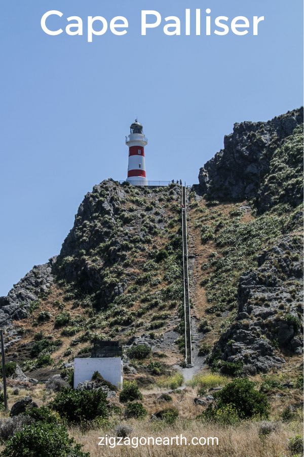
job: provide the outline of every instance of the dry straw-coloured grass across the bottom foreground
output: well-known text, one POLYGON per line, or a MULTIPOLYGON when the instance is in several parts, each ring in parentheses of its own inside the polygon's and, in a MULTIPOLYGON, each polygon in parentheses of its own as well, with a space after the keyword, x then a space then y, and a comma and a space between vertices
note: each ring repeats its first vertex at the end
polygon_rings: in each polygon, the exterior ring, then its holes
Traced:
POLYGON ((140 455, 142 457, 188 457, 214 455, 221 457, 279 457, 291 455, 287 449, 288 439, 301 434, 301 423, 278 424, 278 429, 269 436, 260 438, 258 431, 259 422, 244 422, 239 426, 220 426, 203 423, 200 421, 180 420, 174 426, 145 421, 129 421, 128 425, 133 431, 131 437, 173 437, 185 436, 187 442, 192 437, 217 437, 218 446, 139 446, 137 449, 131 446, 98 446, 98 437, 114 436, 114 428, 109 430, 91 430, 82 433, 79 429, 70 430, 71 436, 84 445, 83 450, 90 452, 91 457, 140 455))

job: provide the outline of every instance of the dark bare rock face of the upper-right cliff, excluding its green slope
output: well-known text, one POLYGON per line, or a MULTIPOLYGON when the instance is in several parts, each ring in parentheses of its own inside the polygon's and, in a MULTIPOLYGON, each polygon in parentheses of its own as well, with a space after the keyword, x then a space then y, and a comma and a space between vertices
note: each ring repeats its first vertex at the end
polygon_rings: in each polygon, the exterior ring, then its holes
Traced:
MULTIPOLYGON (((302 122, 303 109, 300 108, 268 122, 236 123, 233 133, 224 138, 224 149, 200 169, 201 191, 221 200, 251 199, 259 193, 259 206, 263 207, 264 195, 269 190, 265 177, 272 168, 273 153, 302 122)), ((301 165, 301 153, 294 165, 295 168, 301 165)), ((301 195, 295 193, 294 206, 301 202, 301 195)), ((292 198, 289 191, 286 200, 292 203, 292 198)), ((266 206, 270 207, 271 199, 266 200, 266 206)))

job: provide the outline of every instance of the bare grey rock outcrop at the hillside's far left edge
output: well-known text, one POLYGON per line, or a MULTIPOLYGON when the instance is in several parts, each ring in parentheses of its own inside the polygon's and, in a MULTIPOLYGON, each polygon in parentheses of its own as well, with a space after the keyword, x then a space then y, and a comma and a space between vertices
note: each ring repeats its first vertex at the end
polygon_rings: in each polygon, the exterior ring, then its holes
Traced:
POLYGON ((54 281, 52 264, 55 259, 53 257, 47 264, 34 266, 14 284, 7 297, 0 297, 0 327, 27 317, 31 303, 48 293, 54 281))

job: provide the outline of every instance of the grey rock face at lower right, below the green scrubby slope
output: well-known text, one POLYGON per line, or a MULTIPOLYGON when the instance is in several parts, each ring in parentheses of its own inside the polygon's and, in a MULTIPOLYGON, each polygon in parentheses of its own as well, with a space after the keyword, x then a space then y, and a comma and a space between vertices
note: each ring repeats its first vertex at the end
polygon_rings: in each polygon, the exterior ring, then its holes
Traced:
POLYGON ((286 236, 258 257, 258 268, 240 278, 236 322, 219 339, 227 362, 242 362, 245 372, 267 372, 284 363, 277 350, 300 354, 303 313, 302 242, 286 236))

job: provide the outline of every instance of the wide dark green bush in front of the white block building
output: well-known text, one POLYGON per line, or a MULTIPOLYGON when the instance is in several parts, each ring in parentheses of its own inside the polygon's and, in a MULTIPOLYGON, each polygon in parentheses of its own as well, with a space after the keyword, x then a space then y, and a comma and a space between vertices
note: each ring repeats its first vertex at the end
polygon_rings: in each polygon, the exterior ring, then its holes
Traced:
POLYGON ((106 394, 101 389, 61 390, 51 406, 61 417, 71 423, 108 416, 106 394))

